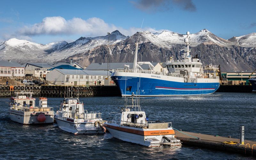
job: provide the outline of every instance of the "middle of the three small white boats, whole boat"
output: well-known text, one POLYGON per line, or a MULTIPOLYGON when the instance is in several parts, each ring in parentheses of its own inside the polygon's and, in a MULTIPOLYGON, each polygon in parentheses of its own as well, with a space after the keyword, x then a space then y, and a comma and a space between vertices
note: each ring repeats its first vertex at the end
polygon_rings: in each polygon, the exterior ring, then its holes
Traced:
POLYGON ((83 102, 80 102, 79 98, 72 98, 72 87, 69 92, 71 98, 65 98, 54 115, 59 128, 74 134, 106 133, 101 113, 84 111, 83 102))

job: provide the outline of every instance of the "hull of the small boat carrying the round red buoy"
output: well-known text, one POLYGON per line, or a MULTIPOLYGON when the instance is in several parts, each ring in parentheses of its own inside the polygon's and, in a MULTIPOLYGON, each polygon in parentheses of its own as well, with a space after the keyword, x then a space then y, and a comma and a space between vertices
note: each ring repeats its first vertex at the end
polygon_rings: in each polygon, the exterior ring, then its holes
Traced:
POLYGON ((12 121, 21 123, 21 124, 52 124, 53 123, 53 111, 44 112, 30 112, 30 111, 19 111, 14 109, 9 109, 8 114, 12 121), (37 120, 37 116, 40 114, 44 114, 45 121, 39 122, 37 120))

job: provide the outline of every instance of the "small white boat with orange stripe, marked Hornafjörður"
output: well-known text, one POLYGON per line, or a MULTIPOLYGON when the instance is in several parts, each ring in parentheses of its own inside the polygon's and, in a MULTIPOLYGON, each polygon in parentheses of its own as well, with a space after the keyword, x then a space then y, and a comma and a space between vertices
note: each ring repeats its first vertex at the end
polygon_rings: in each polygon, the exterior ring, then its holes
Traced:
POLYGON ((133 105, 133 97, 134 93, 132 93, 131 106, 126 104, 111 121, 104 123, 113 137, 147 147, 180 146, 180 140, 175 137, 172 123, 148 121, 148 117, 144 111, 141 111, 140 106, 133 105))

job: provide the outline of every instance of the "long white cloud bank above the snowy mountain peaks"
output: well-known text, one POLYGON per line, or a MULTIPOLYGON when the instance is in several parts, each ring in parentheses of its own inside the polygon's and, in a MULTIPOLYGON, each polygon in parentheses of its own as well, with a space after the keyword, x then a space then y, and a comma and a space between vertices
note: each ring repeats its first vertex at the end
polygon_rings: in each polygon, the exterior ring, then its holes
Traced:
MULTIPOLYGON (((41 23, 36 23, 31 26, 24 26, 17 31, 17 34, 23 36, 36 35, 75 35, 81 36, 104 36, 107 32, 119 30, 126 36, 131 36, 140 31, 140 28, 116 27, 113 24, 108 24, 100 18, 90 18, 83 20, 81 18, 73 18, 65 20, 63 17, 45 17, 41 23)), ((162 32, 164 29, 156 30, 155 28, 142 28, 142 31, 148 30, 152 33, 162 32)))

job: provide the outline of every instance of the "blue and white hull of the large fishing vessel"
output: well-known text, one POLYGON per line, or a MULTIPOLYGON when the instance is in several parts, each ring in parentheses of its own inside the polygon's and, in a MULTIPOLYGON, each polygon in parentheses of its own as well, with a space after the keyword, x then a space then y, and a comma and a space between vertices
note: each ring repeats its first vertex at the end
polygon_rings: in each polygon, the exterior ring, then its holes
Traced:
POLYGON ((219 79, 198 78, 196 83, 185 83, 183 77, 147 73, 113 72, 111 78, 122 96, 131 96, 140 89, 140 96, 175 96, 211 94, 219 87, 219 79))

